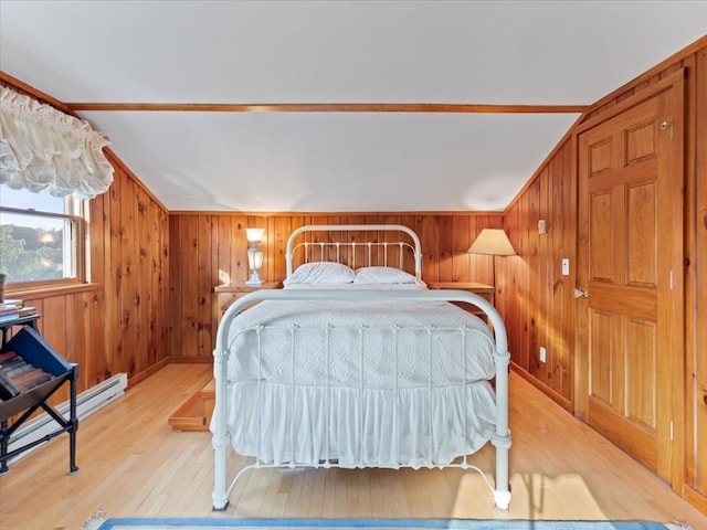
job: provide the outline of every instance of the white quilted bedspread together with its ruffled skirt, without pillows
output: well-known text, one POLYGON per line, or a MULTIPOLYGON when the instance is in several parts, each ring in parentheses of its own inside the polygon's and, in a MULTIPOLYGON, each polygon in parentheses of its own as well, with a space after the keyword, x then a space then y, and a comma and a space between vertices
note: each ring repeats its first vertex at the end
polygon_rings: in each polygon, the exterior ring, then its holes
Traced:
POLYGON ((230 329, 228 430, 268 464, 421 467, 495 426, 493 340, 445 301, 263 301, 230 329))

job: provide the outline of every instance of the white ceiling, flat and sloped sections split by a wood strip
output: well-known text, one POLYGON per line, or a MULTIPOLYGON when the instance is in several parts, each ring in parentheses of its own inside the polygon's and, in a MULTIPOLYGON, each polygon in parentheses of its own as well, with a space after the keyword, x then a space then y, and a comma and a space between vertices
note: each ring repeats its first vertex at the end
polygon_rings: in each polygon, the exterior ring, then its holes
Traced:
MULTIPOLYGON (((65 103, 589 105, 707 1, 0 0, 65 103)), ((578 114, 78 112, 170 210, 503 210, 578 114)))

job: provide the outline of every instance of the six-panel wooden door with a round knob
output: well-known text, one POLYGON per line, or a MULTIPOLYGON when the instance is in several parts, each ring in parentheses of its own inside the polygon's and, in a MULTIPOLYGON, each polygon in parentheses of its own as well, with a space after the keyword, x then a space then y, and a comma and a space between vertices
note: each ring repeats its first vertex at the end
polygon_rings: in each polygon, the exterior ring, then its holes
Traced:
POLYGON ((653 93, 578 135, 578 401, 592 427, 682 484, 682 77, 653 93))

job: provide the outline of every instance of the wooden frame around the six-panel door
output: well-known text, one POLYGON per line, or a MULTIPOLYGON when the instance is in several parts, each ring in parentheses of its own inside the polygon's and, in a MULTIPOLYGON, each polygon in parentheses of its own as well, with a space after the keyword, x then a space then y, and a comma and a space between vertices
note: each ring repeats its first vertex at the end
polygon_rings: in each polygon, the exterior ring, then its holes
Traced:
MULTIPOLYGON (((673 186, 679 187, 680 193, 672 193, 673 201, 672 209, 675 212, 682 212, 679 219, 673 220, 674 229, 672 235, 676 236, 679 233, 679 244, 673 247, 673 255, 671 256, 671 267, 673 271, 673 293, 674 296, 669 297, 666 303, 667 311, 669 312, 668 321, 672 322, 669 327, 669 343, 671 351, 674 352, 675 370, 671 371, 671 377, 667 378, 665 386, 667 392, 673 396, 671 403, 671 415, 673 420, 673 427, 671 431, 672 442, 669 439, 658 441, 659 443, 668 444, 668 451, 665 453, 664 459, 659 459, 658 468, 665 470, 664 476, 668 478, 674 491, 682 494, 683 485, 685 483, 685 204, 684 204, 684 190, 685 190, 685 155, 684 155, 684 141, 685 141, 685 68, 680 68, 663 80, 646 86, 637 94, 618 103, 611 108, 602 112, 597 116, 591 116, 580 125, 578 125, 572 134, 572 168, 574 171, 574 178, 577 180, 577 246, 576 246, 576 263, 577 263, 577 286, 587 287, 589 280, 589 264, 583 263, 581 258, 580 248, 581 245, 587 245, 587 241, 582 241, 580 234, 587 233, 587 197, 585 188, 580 186, 579 176, 579 136, 589 129, 612 119, 623 112, 640 105, 641 103, 658 96, 667 91, 676 91, 679 97, 673 98, 673 104, 667 109, 672 115, 672 127, 674 140, 668 144, 668 149, 665 157, 658 160, 659 171, 667 171, 672 174, 678 176, 677 181, 673 182, 673 186)), ((591 294, 590 294, 591 296, 591 294)), ((576 329, 588 329, 589 326, 589 301, 587 298, 577 298, 576 307, 576 329)), ((589 343, 587 341, 588 335, 576 332, 574 333, 574 414, 579 418, 587 421, 588 415, 588 401, 589 401, 589 343)))

